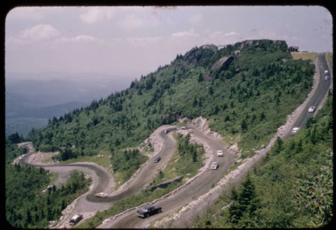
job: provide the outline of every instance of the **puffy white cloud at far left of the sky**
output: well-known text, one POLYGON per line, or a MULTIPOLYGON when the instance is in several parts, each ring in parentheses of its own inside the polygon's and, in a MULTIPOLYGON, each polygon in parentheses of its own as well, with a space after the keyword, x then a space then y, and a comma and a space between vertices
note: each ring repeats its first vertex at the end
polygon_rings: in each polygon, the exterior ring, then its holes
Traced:
POLYGON ((59 36, 59 31, 50 24, 38 24, 35 27, 27 28, 19 33, 20 38, 31 41, 45 41, 59 36))

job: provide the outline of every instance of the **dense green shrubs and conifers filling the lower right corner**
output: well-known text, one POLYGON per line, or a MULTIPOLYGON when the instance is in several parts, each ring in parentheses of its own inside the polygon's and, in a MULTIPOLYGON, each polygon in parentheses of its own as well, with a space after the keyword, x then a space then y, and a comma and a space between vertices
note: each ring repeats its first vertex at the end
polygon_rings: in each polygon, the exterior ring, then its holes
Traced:
POLYGON ((239 189, 198 218, 199 228, 323 227, 333 213, 332 93, 295 136, 276 140, 239 189), (225 208, 224 208, 225 207, 225 208))

